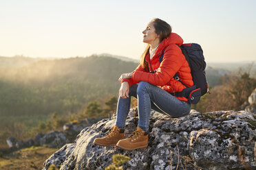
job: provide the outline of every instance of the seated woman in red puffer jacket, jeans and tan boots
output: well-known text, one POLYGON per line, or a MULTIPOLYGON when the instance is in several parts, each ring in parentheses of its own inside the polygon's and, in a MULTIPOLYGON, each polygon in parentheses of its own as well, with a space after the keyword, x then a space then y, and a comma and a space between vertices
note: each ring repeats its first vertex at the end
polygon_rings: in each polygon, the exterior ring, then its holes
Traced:
POLYGON ((172 33, 171 26, 160 19, 150 21, 142 33, 143 42, 148 45, 142 53, 140 65, 135 71, 124 73, 119 78, 122 84, 116 125, 105 137, 96 138, 96 145, 116 145, 127 150, 145 149, 148 145, 151 109, 171 117, 182 117, 191 110, 188 99, 172 95, 181 92, 186 86, 193 86, 189 64, 179 47, 182 45, 182 38, 172 33), (175 73, 178 73, 182 82, 173 78, 175 73), (138 99, 139 121, 136 130, 128 138, 124 138, 131 96, 138 99))

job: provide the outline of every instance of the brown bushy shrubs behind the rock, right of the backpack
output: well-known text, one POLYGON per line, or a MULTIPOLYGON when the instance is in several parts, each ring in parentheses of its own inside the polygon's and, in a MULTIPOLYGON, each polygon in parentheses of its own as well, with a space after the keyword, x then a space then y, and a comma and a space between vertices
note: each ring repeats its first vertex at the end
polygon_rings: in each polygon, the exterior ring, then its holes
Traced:
POLYGON ((243 110, 255 88, 256 78, 250 77, 250 71, 224 75, 222 85, 211 89, 211 95, 204 95, 193 108, 199 112, 243 110))

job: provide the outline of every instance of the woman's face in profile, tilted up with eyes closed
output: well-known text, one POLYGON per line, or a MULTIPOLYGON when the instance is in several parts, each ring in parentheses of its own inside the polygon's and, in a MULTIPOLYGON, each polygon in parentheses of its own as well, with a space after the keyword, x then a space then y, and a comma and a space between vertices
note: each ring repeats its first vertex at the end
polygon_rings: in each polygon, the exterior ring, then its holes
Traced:
POLYGON ((157 38, 159 38, 159 35, 155 32, 155 27, 153 26, 153 23, 149 23, 142 33, 144 34, 143 42, 146 42, 148 44, 153 44, 153 42, 157 38))

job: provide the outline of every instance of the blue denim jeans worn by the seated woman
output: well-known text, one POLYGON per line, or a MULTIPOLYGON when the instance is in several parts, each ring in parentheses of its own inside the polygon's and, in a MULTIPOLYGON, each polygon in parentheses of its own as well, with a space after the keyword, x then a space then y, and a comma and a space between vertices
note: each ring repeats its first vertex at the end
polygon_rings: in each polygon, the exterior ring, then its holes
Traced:
POLYGON ((180 101, 158 86, 148 82, 140 82, 130 87, 128 98, 119 97, 118 99, 116 110, 116 125, 118 127, 125 127, 125 120, 131 105, 131 96, 138 99, 138 126, 145 131, 149 130, 151 109, 168 114, 171 117, 183 117, 189 114, 191 110, 191 105, 186 101, 180 101))

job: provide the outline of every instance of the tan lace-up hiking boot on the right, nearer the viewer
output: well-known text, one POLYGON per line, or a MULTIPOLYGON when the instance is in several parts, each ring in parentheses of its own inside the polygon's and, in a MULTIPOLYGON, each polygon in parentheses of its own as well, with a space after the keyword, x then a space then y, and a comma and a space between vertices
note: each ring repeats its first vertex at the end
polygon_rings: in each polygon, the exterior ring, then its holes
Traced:
POLYGON ((149 132, 145 132, 140 127, 137 127, 128 138, 118 141, 116 146, 129 151, 138 148, 147 149, 148 139, 149 132))

